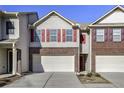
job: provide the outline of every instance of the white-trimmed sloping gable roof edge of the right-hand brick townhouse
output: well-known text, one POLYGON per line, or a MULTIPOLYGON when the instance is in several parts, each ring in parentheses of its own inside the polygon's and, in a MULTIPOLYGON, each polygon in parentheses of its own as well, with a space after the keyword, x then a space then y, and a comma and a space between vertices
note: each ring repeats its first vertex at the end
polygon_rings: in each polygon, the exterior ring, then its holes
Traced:
POLYGON ((103 20, 104 18, 106 18, 107 16, 109 16, 111 13, 113 13, 115 10, 120 9, 121 11, 124 12, 124 8, 120 5, 114 7, 113 9, 111 9, 109 12, 107 12, 105 15, 101 16, 99 19, 97 19, 95 22, 91 23, 89 26, 93 26, 96 23, 100 22, 101 20, 103 20))

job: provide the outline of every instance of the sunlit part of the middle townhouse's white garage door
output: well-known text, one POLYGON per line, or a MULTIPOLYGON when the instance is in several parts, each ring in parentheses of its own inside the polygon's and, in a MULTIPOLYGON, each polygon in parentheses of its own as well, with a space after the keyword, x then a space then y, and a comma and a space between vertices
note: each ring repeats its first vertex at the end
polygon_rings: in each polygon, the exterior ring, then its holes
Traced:
POLYGON ((42 56, 45 72, 74 72, 74 56, 42 56))

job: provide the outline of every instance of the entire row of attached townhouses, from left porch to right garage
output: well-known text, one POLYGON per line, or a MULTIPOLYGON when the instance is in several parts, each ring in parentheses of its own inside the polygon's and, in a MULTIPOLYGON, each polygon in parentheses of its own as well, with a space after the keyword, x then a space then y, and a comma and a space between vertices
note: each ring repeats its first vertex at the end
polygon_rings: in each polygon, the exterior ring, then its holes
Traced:
POLYGON ((0 74, 22 72, 124 72, 124 8, 91 24, 56 11, 0 12, 0 74))

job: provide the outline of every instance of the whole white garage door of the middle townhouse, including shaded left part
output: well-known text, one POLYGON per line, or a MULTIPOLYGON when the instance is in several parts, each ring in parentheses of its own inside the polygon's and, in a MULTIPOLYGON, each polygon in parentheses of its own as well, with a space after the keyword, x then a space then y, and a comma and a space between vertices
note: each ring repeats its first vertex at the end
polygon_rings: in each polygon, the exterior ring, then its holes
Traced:
POLYGON ((33 72, 74 72, 74 56, 33 55, 33 72))

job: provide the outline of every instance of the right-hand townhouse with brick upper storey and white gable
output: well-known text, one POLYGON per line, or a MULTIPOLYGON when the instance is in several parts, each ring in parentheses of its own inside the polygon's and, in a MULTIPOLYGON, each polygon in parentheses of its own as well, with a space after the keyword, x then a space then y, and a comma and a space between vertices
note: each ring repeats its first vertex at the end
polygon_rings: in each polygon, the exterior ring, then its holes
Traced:
POLYGON ((124 8, 115 7, 90 29, 92 71, 124 72, 124 8))

